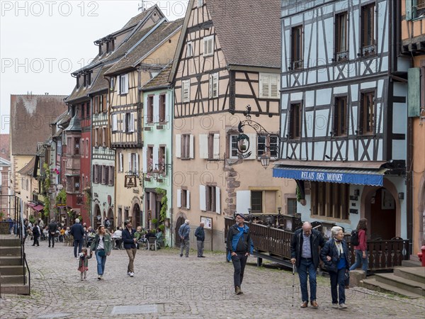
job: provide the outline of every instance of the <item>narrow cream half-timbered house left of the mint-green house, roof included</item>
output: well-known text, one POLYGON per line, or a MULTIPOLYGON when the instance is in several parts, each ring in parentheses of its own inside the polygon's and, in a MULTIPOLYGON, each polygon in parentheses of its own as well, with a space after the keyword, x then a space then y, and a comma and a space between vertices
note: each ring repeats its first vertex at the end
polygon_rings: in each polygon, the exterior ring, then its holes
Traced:
POLYGON ((111 147, 115 149, 117 162, 115 203, 118 216, 132 220, 135 227, 146 226, 148 222, 140 182, 144 178, 140 163, 145 145, 140 88, 173 59, 182 23, 182 19, 168 22, 163 18, 136 32, 123 46, 125 55, 105 73, 111 83, 109 121, 111 147))

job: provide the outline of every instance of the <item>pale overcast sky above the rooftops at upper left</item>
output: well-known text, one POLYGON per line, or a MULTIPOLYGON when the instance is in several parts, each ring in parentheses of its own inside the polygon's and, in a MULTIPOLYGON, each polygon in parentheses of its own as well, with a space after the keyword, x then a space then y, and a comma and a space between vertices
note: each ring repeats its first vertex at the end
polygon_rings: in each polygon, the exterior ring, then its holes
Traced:
MULTIPOLYGON (((1 133, 9 130, 11 94, 70 94, 71 73, 98 53, 94 40, 122 28, 141 2, 1 0, 1 133)), ((188 0, 145 1, 154 4, 172 21, 183 18, 188 0)))

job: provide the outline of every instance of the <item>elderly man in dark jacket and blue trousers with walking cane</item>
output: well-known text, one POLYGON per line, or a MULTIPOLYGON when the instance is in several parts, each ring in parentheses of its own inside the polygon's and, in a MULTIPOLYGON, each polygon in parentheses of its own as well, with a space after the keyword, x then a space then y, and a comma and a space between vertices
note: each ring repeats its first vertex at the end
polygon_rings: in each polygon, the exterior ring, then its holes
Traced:
MULTIPOLYGON (((297 266, 300 277, 302 304, 301 308, 308 306, 307 274, 310 281, 310 303, 312 308, 317 309, 316 301, 316 269, 319 266, 319 246, 324 246, 322 233, 312 230, 309 222, 302 224, 302 228, 296 230, 290 242, 290 262, 297 266)), ((294 272, 294 270, 293 270, 294 272)))

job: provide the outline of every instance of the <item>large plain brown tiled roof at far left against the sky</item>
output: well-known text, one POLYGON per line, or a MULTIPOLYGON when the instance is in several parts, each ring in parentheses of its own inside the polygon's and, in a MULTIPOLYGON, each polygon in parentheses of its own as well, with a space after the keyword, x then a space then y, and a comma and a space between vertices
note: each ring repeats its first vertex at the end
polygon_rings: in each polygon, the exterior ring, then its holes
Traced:
POLYGON ((34 155, 51 135, 50 124, 67 110, 63 95, 11 95, 11 154, 34 155))

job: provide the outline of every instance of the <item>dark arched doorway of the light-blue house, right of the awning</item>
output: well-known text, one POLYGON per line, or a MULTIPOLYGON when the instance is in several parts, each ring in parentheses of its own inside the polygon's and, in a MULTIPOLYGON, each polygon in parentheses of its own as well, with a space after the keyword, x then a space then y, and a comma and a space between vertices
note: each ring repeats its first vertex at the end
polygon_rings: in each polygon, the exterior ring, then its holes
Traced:
POLYGON ((384 187, 377 189, 370 198, 370 218, 368 221, 370 239, 390 240, 397 236, 395 198, 384 187))

